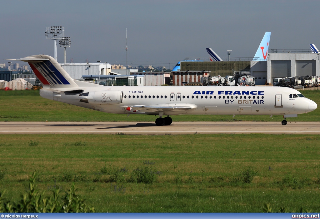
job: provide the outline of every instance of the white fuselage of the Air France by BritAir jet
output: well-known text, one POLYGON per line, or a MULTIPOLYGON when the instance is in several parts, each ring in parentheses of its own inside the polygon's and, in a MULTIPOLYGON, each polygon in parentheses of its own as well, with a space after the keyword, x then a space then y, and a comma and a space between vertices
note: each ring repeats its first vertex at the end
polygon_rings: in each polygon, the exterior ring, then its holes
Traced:
POLYGON ((76 87, 75 90, 78 93, 74 91, 75 94, 70 94, 64 89, 43 88, 40 95, 102 112, 123 114, 159 114, 159 111, 149 108, 130 110, 128 107, 131 106, 182 107, 181 110, 164 110, 163 115, 284 115, 308 113, 316 109, 312 100, 286 87, 95 86, 76 87), (290 98, 290 94, 299 94, 300 97, 290 98), (183 109, 183 106, 189 106, 189 109, 183 109))

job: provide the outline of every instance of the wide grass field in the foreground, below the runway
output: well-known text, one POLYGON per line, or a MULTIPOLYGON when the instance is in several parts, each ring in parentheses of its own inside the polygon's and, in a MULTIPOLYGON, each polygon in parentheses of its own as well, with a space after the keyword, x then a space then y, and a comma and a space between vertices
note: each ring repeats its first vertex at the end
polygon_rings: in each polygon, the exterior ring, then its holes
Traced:
MULTIPOLYGON (((318 135, 0 135, 0 190, 78 193, 97 212, 320 211, 318 135), (147 168, 137 183, 134 172, 147 168), (2 176, 2 177, 1 177, 2 176)), ((141 175, 142 172, 140 172, 141 175)))

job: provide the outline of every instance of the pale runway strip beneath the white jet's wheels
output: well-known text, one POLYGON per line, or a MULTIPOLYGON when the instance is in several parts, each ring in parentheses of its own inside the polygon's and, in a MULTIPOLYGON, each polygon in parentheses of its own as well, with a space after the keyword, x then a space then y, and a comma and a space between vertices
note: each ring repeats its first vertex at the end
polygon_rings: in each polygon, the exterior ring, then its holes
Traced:
POLYGON ((0 134, 320 134, 320 122, 0 122, 0 134))

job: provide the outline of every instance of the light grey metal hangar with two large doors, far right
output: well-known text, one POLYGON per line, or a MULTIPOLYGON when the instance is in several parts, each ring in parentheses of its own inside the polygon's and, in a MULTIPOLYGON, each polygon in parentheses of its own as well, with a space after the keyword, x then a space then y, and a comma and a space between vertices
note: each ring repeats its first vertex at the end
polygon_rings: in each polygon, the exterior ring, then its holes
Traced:
POLYGON ((267 65, 268 83, 274 78, 320 76, 319 53, 268 53, 267 65))

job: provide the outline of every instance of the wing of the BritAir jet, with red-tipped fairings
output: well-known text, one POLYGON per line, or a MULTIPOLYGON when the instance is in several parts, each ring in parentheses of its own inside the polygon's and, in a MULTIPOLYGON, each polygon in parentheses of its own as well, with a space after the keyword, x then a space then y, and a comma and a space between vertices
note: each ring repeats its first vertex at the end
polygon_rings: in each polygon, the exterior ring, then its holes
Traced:
POLYGON ((194 104, 189 104, 185 106, 144 106, 144 105, 135 105, 135 106, 124 106, 127 111, 136 112, 175 112, 175 111, 182 111, 182 110, 190 110, 196 109, 197 106, 194 104))

